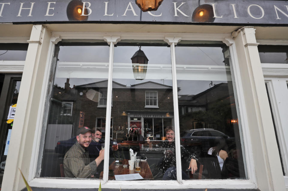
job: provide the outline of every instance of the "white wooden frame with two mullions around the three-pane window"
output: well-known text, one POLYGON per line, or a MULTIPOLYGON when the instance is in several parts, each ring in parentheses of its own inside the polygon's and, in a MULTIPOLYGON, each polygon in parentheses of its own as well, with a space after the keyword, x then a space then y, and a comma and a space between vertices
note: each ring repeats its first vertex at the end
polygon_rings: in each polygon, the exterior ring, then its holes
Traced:
MULTIPOLYGON (((231 64, 232 67, 232 64, 231 64)), ((247 115, 245 109, 245 101, 241 93, 243 86, 241 84, 240 72, 237 70, 239 68, 239 63, 237 61, 236 47, 234 40, 231 38, 231 34, 197 34, 197 33, 101 33, 101 32, 51 32, 50 46, 48 51, 48 57, 45 67, 45 76, 44 82, 42 85, 41 100, 39 105, 39 111, 41 114, 37 118, 37 127, 35 131, 34 146, 32 148, 32 158, 30 162, 29 177, 28 182, 32 187, 50 187, 50 188, 98 188, 99 183, 101 182, 102 188, 114 188, 114 189, 131 189, 139 188, 139 185, 145 187, 145 189, 163 189, 163 187, 169 189, 187 189, 187 188, 222 188, 222 189, 256 189, 256 177, 254 171, 253 163, 253 154, 251 147, 247 146, 251 144, 249 128, 247 125, 247 115), (238 93, 238 103, 239 103, 239 112, 242 121, 242 131, 243 131, 243 140, 245 148, 245 158, 247 163, 247 179, 245 180, 182 180, 181 173, 177 173, 177 181, 129 181, 129 184, 125 181, 108 181, 108 160, 104 160, 104 178, 103 180, 92 180, 92 179, 73 179, 73 178, 35 178, 37 173, 37 159, 39 153, 39 143, 41 137, 42 123, 44 117, 44 106, 45 106, 45 97, 47 95, 47 87, 50 76, 50 69, 52 64, 52 56, 54 53, 55 44, 63 39, 104 39, 110 45, 110 56, 109 56, 109 72, 108 72, 108 92, 107 92, 107 113, 106 113, 106 133, 110 134, 110 118, 111 118, 111 99, 112 99, 112 77, 113 77, 113 54, 114 54, 114 45, 119 40, 124 39, 133 39, 133 40, 164 40, 168 42, 171 50, 171 62, 172 62, 172 76, 173 76, 173 102, 174 102, 174 117, 175 123, 175 134, 179 135, 179 117, 178 112, 178 95, 177 95, 177 80, 176 80, 176 61, 175 61, 175 45, 177 42, 182 40, 205 40, 205 41, 223 41, 229 46, 231 59, 233 63, 233 79, 235 81, 235 88, 240 90, 238 93)), ((46 114, 47 115, 47 114, 46 114)), ((239 124, 241 123, 239 121, 239 124)), ((105 147, 109 147, 110 141, 109 136, 105 137, 105 147)), ((180 136, 176 136, 176 147, 180 148, 180 136)), ((179 151, 179 149, 177 149, 179 151)), ((176 152, 177 152, 176 150, 176 152)), ((180 151, 179 151, 180 152, 180 151)), ((244 153, 243 153, 244 154, 244 153)), ((105 150, 104 156, 109 157, 109 151, 105 150)), ((181 168, 178 168, 181 165, 181 156, 176 153, 176 166, 180 171, 181 168)), ((177 171, 178 171, 177 170, 177 171)), ((39 172, 38 172, 39 173, 39 172)))

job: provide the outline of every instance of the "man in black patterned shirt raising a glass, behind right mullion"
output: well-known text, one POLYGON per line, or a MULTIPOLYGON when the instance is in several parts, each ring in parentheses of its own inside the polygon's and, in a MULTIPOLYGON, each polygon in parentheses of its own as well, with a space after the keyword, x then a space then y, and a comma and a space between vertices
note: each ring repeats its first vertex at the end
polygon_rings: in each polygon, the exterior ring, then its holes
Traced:
MULTIPOLYGON (((168 126, 165 129, 166 138, 168 140, 160 144, 154 145, 155 151, 163 150, 162 162, 160 163, 158 170, 161 171, 162 180, 176 180, 176 153, 175 153, 175 131, 172 126, 168 126)), ((149 137, 146 139, 149 144, 149 148, 152 149, 152 143, 149 137)), ((189 168, 192 174, 197 170, 196 155, 188 152, 182 145, 180 145, 181 162, 184 160, 189 163, 189 168)), ((187 174, 182 171, 182 178, 188 179, 187 174)))

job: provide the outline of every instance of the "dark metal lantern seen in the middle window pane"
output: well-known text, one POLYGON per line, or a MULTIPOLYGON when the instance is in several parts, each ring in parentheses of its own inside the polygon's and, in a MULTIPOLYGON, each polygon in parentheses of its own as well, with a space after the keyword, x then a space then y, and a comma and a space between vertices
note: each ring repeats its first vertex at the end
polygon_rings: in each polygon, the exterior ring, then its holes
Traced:
POLYGON ((141 50, 141 46, 139 46, 139 50, 135 52, 131 60, 134 78, 138 80, 145 79, 149 60, 141 50))

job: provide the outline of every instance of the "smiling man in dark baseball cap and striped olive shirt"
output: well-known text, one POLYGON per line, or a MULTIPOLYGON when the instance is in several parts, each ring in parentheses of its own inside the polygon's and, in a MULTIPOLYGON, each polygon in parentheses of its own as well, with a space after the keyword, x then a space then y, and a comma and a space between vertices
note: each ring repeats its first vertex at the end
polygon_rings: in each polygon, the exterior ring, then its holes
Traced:
POLYGON ((88 127, 81 127, 76 135, 77 142, 64 156, 65 178, 93 178, 97 172, 97 166, 104 159, 104 150, 101 150, 99 156, 90 162, 87 148, 92 140, 92 130, 88 127))

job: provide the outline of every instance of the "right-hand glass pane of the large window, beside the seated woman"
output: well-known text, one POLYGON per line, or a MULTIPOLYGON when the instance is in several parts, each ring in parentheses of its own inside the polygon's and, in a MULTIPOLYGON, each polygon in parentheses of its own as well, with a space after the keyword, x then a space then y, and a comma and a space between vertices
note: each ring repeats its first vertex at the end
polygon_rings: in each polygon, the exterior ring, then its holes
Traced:
POLYGON ((225 51, 223 44, 181 41, 176 46, 180 143, 198 159, 193 175, 189 161, 182 159, 183 179, 197 179, 201 174, 202 179, 245 178, 237 104, 225 51))

